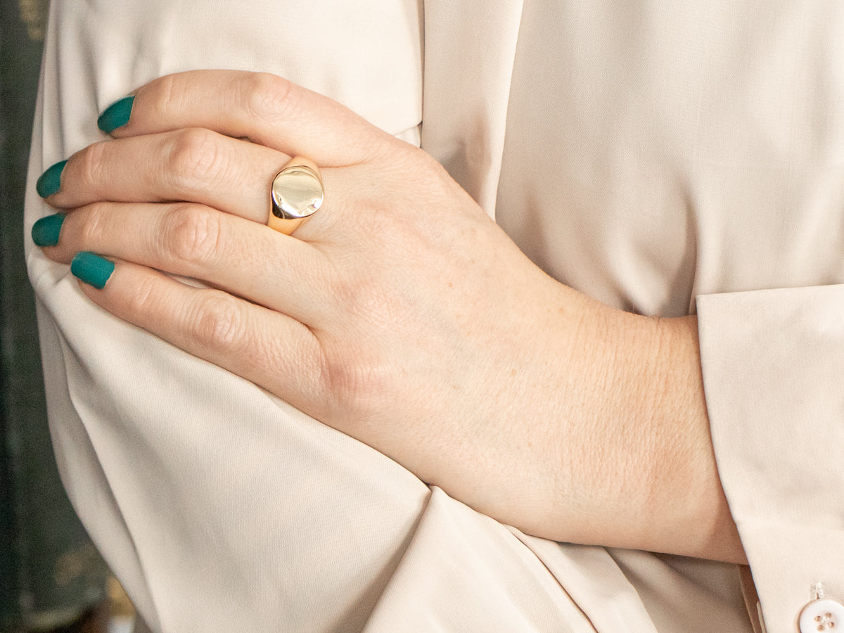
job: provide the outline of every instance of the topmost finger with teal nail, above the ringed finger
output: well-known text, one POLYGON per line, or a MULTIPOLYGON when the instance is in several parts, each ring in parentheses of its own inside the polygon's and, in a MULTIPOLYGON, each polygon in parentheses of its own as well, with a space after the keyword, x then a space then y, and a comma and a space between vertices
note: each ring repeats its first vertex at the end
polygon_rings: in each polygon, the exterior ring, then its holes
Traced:
POLYGON ((322 167, 371 155, 373 137, 392 139, 337 101, 269 73, 197 70, 155 79, 100 116, 116 138, 205 127, 322 167))

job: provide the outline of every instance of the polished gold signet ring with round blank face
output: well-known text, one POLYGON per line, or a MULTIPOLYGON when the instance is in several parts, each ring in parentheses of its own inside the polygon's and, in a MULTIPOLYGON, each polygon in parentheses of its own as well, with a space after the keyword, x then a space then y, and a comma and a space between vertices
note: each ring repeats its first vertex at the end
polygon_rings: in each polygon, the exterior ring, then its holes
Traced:
POLYGON ((272 206, 267 225, 290 235, 317 213, 325 200, 319 167, 312 160, 295 156, 273 178, 270 198, 272 206))

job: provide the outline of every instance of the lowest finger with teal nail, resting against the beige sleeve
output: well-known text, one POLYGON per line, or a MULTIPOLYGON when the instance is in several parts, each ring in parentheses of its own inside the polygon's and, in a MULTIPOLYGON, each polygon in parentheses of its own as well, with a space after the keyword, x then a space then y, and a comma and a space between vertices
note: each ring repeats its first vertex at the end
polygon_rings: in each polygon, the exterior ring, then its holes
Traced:
POLYGON ((196 289, 129 262, 80 253, 73 272, 84 293, 142 327, 295 405, 321 392, 321 349, 307 327, 213 289, 196 289), (102 286, 101 289, 98 286, 102 286))

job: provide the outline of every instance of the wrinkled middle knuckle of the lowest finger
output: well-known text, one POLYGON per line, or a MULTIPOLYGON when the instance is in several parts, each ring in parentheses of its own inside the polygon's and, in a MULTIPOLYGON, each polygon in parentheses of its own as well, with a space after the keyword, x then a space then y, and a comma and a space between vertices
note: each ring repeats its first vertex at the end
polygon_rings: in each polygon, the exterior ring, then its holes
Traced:
POLYGON ((201 349, 240 349, 246 335, 240 300, 220 290, 203 292, 188 332, 201 349))

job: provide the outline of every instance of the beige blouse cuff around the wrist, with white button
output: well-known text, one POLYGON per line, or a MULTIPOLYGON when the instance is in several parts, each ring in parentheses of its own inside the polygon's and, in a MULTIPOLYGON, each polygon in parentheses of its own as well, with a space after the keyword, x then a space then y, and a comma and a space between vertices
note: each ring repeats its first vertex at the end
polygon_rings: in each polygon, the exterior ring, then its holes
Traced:
POLYGON ((844 285, 697 307, 718 469, 767 633, 842 625, 835 603, 807 603, 819 582, 844 601, 844 285))

